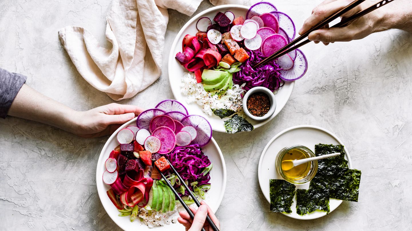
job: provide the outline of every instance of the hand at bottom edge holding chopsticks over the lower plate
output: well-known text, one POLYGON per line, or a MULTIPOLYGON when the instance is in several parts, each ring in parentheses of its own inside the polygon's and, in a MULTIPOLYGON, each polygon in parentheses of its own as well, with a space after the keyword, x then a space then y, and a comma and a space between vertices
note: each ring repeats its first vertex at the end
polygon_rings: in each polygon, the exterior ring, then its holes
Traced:
POLYGON ((204 201, 201 201, 200 203, 201 206, 197 210, 193 207, 189 207, 194 214, 194 219, 190 218, 189 213, 182 211, 179 213, 180 217, 178 218, 178 222, 185 226, 186 231, 200 231, 202 227, 206 231, 213 231, 212 227, 206 221, 206 215, 209 215, 213 223, 215 223, 220 230, 220 222, 212 212, 211 208, 204 201))

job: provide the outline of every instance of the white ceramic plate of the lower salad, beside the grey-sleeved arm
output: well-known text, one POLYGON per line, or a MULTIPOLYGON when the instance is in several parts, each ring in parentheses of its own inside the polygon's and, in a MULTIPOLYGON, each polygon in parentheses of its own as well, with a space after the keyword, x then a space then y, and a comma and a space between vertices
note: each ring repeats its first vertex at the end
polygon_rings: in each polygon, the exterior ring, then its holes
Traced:
MULTIPOLYGON (((100 157, 97 162, 97 169, 96 169, 96 185, 97 185, 97 192, 100 198, 101 203, 103 204, 103 208, 106 210, 106 213, 109 217, 122 229, 129 231, 129 230, 156 230, 156 231, 174 231, 178 230, 181 231, 184 227, 179 224, 170 224, 165 226, 157 226, 154 229, 150 229, 145 224, 140 222, 136 219, 134 222, 130 222, 129 217, 119 217, 119 211, 113 205, 112 201, 110 201, 109 197, 107 196, 107 190, 110 189, 109 185, 103 183, 102 177, 103 172, 106 170, 104 166, 104 162, 109 157, 110 152, 115 149, 119 143, 117 142, 116 135, 120 129, 123 129, 127 126, 134 125, 136 126, 136 118, 126 122, 122 127, 119 127, 115 133, 113 133, 108 141, 103 146, 103 149, 100 153, 100 157)), ((225 159, 223 159, 222 152, 218 144, 212 138, 210 143, 203 147, 203 152, 205 155, 208 156, 210 161, 213 163, 213 168, 210 171, 210 183, 212 185, 211 189, 208 190, 206 193, 206 203, 210 206, 213 212, 216 212, 220 206, 220 202, 222 202, 223 194, 225 193, 226 187, 226 166, 225 166, 225 159)))

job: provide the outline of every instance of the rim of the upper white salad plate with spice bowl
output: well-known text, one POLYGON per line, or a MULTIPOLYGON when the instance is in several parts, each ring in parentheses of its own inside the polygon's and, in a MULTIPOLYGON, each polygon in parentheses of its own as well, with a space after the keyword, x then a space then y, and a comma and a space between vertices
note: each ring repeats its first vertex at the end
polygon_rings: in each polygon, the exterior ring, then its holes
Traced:
MULTIPOLYGON (((190 18, 190 20, 187 21, 187 23, 185 23, 185 25, 183 25, 182 28, 180 28, 178 34, 176 35, 175 39, 173 40, 173 43, 172 43, 172 46, 171 46, 171 49, 170 49, 170 52, 169 52, 169 61, 168 61, 168 65, 167 65, 167 72, 168 72, 168 74, 169 74, 168 77, 169 77, 169 85, 170 85, 170 86, 171 86, 171 78, 170 78, 170 76, 171 76, 172 74, 171 74, 171 69, 170 69, 169 63, 171 63, 171 62, 173 62, 173 61, 176 62, 176 61, 175 61, 175 60, 176 60, 176 59, 175 59, 175 55, 173 55, 173 53, 172 53, 171 51, 176 47, 176 45, 177 45, 177 43, 178 43, 178 38, 179 38, 180 36, 182 36, 183 31, 184 31, 187 27, 189 27, 189 25, 191 25, 191 24, 194 23, 196 20, 198 20, 201 16, 203 16, 204 14, 208 14, 208 13, 210 13, 210 12, 213 12, 213 11, 216 11, 216 10, 219 10, 219 9, 222 9, 222 8, 231 8, 231 7, 241 8, 241 9, 246 10, 246 12, 247 12, 248 9, 250 8, 250 7, 246 7, 246 6, 243 6, 243 5, 236 5, 236 4, 227 4, 227 5, 220 5, 220 6, 211 7, 211 8, 209 8, 209 9, 206 9, 206 10, 200 12, 199 14, 196 14, 196 15, 193 16, 192 18, 190 18)), ((288 100, 286 100, 286 103, 288 103, 288 101, 289 101, 289 99, 290 99, 290 95, 292 95, 293 88, 295 87, 295 81, 288 81, 288 83, 290 83, 291 90, 290 90, 290 92, 288 93, 288 96, 287 96, 287 97, 288 97, 288 100)), ((176 98, 176 95, 175 95, 175 92, 173 91, 172 88, 171 88, 171 90, 172 90, 173 97, 175 97, 175 99, 177 99, 177 98, 176 98)), ((276 102, 276 103, 277 103, 277 102, 276 102)), ((261 127, 261 126, 267 124, 269 121, 271 121, 273 118, 275 118, 275 116, 277 116, 277 115, 283 110, 283 108, 285 107, 286 103, 285 103, 284 105, 278 104, 277 106, 281 106, 281 109, 280 109, 279 111, 276 111, 276 110, 275 110, 275 112, 273 113, 273 115, 272 115, 271 117, 267 118, 267 120, 256 121, 256 122, 258 122, 258 123, 257 123, 256 125, 253 125, 253 127, 255 127, 255 129, 256 129, 256 128, 258 128, 258 127, 261 127)), ((187 103, 184 102, 184 104, 187 104, 187 103)), ((222 121, 223 121, 223 120, 222 120, 222 121)), ((213 129, 213 131, 216 131, 216 132, 227 133, 225 130, 216 129, 216 128, 214 128, 214 127, 212 127, 212 129, 213 129)))

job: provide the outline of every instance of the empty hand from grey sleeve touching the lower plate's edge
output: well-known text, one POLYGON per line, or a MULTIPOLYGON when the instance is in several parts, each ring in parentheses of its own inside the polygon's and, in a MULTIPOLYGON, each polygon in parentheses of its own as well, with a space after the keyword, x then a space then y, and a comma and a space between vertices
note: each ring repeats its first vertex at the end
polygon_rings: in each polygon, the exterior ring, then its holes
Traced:
POLYGON ((112 134, 125 122, 138 116, 143 109, 133 105, 107 104, 89 111, 74 113, 74 126, 67 129, 69 132, 84 138, 100 137, 112 134))

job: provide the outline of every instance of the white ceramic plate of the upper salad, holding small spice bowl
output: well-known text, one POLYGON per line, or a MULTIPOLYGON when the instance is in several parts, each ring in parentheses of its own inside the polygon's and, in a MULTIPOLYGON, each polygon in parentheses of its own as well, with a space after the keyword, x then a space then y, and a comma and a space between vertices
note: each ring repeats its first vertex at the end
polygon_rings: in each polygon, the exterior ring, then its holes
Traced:
MULTIPOLYGON (((241 6, 241 5, 221 5, 217 7, 212 7, 210 9, 207 9, 205 11, 200 12, 196 16, 194 16, 192 19, 190 19, 182 29, 180 29, 178 35, 176 36, 175 41, 173 42, 170 50, 170 55, 169 55, 169 82, 170 86, 173 92, 174 97, 181 103, 185 105, 188 111, 190 111, 193 114, 196 115, 201 115, 204 118, 206 118, 210 124, 212 125, 212 129, 217 132, 226 132, 225 125, 223 123, 223 120, 220 119, 218 116, 212 115, 208 116, 203 111, 201 108, 194 103, 187 104, 186 99, 187 96, 183 95, 180 91, 180 85, 182 84, 182 76, 187 70, 180 65, 178 60, 176 60, 175 56, 176 53, 179 51, 182 51, 182 41, 183 37, 185 35, 190 34, 190 35, 196 35, 198 30, 196 29, 196 23, 201 17, 209 17, 213 20, 214 16, 216 15, 217 12, 226 12, 226 11, 231 11, 234 13, 235 17, 238 16, 243 16, 243 18, 246 17, 246 12, 248 11, 249 7, 246 6, 241 6)), ((288 99, 290 97, 290 94, 292 93, 293 86, 295 85, 295 82, 286 82, 285 85, 283 85, 282 88, 280 88, 277 92, 276 96, 276 110, 273 113, 273 115, 264 121, 254 121, 250 118, 248 118, 248 121, 253 124, 255 128, 258 128, 262 125, 265 125, 267 122, 272 120, 285 106, 286 102, 288 102, 288 99)))

